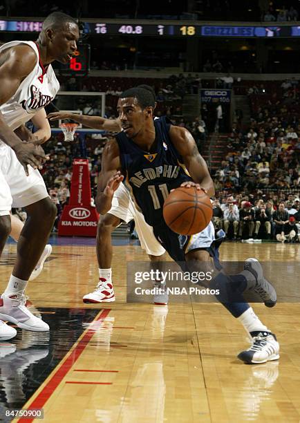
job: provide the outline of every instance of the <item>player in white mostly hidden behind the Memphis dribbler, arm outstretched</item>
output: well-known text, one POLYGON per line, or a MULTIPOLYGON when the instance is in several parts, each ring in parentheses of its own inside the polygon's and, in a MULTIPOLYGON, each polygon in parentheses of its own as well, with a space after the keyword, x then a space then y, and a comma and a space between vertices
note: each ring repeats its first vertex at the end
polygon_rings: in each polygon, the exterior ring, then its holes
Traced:
MULTIPOLYGON (((153 95, 156 105, 156 93, 153 88, 144 84, 139 87, 148 90, 153 95)), ((79 115, 69 112, 53 112, 47 118, 49 120, 71 119, 93 129, 102 129, 111 132, 120 132, 122 130, 119 118, 106 119, 100 116, 79 115)), ((158 243, 153 234, 153 229, 147 225, 142 213, 136 209, 133 200, 130 198, 128 189, 123 184, 120 184, 113 194, 111 209, 103 216, 100 216, 97 225, 96 252, 99 265, 99 281, 93 292, 84 295, 84 303, 108 303, 115 301, 111 270, 113 256, 111 233, 120 223, 129 223, 131 220, 135 221, 135 229, 138 232, 141 247, 147 252, 149 259, 151 261, 160 261, 163 254, 165 254, 165 249, 158 243)), ((157 294, 153 297, 153 303, 155 304, 165 305, 167 301, 166 294, 157 294)))

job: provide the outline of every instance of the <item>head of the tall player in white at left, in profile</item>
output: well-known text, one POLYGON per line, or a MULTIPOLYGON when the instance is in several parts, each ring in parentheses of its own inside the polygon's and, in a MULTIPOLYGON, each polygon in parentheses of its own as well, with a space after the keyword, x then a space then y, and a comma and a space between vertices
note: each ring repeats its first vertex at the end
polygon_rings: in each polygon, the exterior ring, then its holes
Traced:
POLYGON ((77 49, 79 29, 73 17, 53 12, 44 20, 39 42, 47 47, 48 56, 62 64, 68 63, 77 49))

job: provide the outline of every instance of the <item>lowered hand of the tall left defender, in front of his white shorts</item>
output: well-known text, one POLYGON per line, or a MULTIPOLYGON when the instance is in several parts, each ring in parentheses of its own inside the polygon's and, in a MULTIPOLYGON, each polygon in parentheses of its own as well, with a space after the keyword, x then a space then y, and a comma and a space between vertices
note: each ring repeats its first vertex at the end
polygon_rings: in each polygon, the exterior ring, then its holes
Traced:
POLYGON ((32 144, 32 142, 20 142, 14 150, 17 159, 24 167, 26 176, 29 175, 28 164, 30 164, 33 169, 41 169, 41 165, 47 160, 41 146, 32 144))

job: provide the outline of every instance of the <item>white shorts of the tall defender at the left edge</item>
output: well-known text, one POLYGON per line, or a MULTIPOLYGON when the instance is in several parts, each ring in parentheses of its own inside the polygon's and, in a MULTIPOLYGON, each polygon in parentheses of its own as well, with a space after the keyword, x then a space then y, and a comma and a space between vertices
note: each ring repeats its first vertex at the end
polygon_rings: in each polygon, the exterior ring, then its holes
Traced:
POLYGON ((48 197, 45 182, 38 170, 28 166, 26 176, 15 151, 0 141, 0 216, 12 207, 26 207, 48 197))

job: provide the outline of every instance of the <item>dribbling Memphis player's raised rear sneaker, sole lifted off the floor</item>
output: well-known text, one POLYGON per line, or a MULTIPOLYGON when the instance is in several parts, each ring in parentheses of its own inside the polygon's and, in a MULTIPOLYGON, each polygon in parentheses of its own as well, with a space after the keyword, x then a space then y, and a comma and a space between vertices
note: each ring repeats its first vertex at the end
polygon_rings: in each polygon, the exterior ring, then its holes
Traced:
POLYGON ((243 274, 247 279, 248 290, 256 292, 256 294, 258 294, 265 303, 265 306, 275 306, 277 300, 276 291, 270 282, 263 277, 263 267, 258 260, 247 259, 244 263, 244 271, 241 272, 241 274, 243 274))

